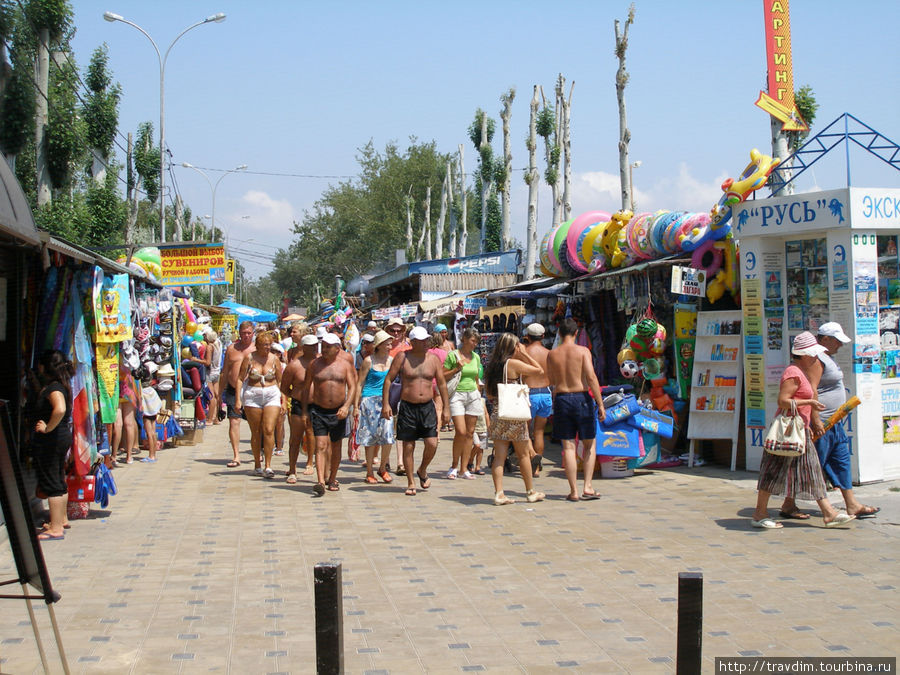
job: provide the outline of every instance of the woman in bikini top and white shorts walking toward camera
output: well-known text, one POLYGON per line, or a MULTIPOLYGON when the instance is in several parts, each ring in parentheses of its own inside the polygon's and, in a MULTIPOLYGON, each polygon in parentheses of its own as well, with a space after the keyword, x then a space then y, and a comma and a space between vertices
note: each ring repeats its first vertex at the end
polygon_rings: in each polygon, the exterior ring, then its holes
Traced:
POLYGON ((287 402, 281 393, 281 361, 272 351, 272 336, 260 333, 256 336, 256 351, 244 357, 235 396, 234 409, 244 410, 250 424, 250 449, 253 451, 253 473, 274 478, 271 468, 272 449, 275 447, 275 423, 287 402), (260 460, 260 446, 265 456, 265 469, 260 460))

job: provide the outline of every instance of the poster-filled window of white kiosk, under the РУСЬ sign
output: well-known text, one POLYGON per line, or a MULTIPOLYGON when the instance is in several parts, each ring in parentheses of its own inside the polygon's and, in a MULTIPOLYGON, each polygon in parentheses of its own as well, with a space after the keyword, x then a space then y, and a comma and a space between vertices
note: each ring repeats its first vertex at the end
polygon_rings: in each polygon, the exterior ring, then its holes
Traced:
POLYGON ((815 331, 828 321, 828 249, 825 239, 784 244, 787 267, 788 330, 815 331))

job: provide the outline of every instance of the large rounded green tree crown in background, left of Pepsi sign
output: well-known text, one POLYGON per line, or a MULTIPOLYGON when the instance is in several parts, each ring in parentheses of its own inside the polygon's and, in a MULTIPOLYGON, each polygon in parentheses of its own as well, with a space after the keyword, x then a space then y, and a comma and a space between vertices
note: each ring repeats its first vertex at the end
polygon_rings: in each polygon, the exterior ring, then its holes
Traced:
POLYGON ((406 246, 406 196, 411 192, 417 236, 425 190, 440 190, 447 155, 434 142, 410 138, 405 150, 392 142, 379 152, 369 142, 357 162, 359 175, 326 189, 276 255, 270 278, 292 302, 312 305, 316 285, 330 289, 336 274, 349 281, 379 265, 393 267, 394 251, 406 246))

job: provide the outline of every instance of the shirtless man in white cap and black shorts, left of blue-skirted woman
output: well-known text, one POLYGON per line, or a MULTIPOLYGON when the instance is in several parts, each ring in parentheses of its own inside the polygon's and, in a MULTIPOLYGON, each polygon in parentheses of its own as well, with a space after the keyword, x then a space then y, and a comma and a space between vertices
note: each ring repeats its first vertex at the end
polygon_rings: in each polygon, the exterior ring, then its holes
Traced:
POLYGON ((322 337, 322 356, 314 360, 303 380, 302 412, 316 437, 316 482, 313 492, 340 490, 337 470, 341 443, 347 428, 350 402, 356 394, 356 370, 352 359, 340 357, 341 339, 334 333, 322 337), (326 476, 326 471, 328 474, 326 476))

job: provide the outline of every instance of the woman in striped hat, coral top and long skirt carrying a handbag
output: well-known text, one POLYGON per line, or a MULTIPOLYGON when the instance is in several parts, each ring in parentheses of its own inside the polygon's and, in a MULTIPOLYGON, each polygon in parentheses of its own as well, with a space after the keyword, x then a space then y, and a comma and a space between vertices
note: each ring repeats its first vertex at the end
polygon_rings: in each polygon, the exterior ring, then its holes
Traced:
POLYGON ((769 497, 773 494, 815 501, 822 511, 825 527, 836 527, 855 518, 847 513, 838 512, 828 501, 822 467, 819 465, 819 456, 809 432, 809 421, 813 408, 822 410, 824 406, 816 398, 816 392, 804 371, 808 370, 815 363, 818 355, 824 351, 825 348, 809 332, 800 333, 794 338, 791 347, 793 360, 784 369, 781 376, 781 387, 778 391, 778 414, 782 416, 782 419, 779 420, 776 417, 773 422, 773 425, 778 425, 778 429, 785 431, 780 433, 780 437, 777 439, 769 439, 769 434, 767 434, 767 449, 763 453, 762 463, 759 467, 759 481, 756 486, 756 510, 753 512, 751 520, 753 527, 767 530, 783 527, 781 523, 769 517, 769 497), (783 419, 790 416, 792 411, 795 417, 794 423, 797 426, 786 424, 783 419), (802 424, 799 424, 801 420, 802 424), (773 454, 773 451, 782 452, 782 448, 790 448, 797 443, 795 436, 802 444, 801 454, 797 456, 773 454))

